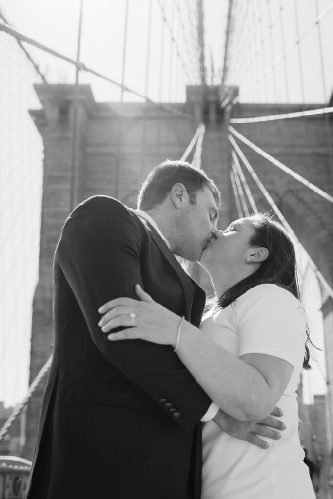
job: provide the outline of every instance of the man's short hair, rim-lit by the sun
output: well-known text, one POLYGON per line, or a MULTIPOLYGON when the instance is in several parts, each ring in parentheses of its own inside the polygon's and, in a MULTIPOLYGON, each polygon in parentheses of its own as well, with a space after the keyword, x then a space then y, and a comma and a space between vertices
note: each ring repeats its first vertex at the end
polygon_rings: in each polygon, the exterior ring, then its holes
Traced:
POLYGON ((175 184, 183 184, 191 204, 196 203, 198 191, 208 187, 220 206, 221 195, 213 180, 203 170, 199 170, 185 161, 167 160, 156 166, 148 175, 138 196, 138 208, 152 210, 161 205, 175 184))

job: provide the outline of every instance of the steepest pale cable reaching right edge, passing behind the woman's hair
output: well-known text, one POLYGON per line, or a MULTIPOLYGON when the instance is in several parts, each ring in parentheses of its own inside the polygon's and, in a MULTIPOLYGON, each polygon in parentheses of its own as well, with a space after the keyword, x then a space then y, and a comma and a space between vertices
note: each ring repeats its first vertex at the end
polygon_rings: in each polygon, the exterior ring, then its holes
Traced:
POLYGON ((252 175, 252 178, 253 180, 256 182, 257 186, 259 187, 259 189, 261 190, 261 192, 263 193, 263 195, 265 196, 265 198, 267 199, 267 201, 269 202, 269 204, 271 205, 271 207, 273 208, 273 210, 275 211, 275 213, 277 214, 277 216, 279 217, 281 223, 284 225, 284 227, 286 228, 287 232, 289 233, 289 235, 291 235, 293 237, 293 239, 297 242, 297 244, 299 244, 303 249, 304 251, 306 252, 307 254, 307 258, 309 259, 309 263, 312 267, 312 269, 314 270, 314 272, 316 273, 318 279, 320 280, 320 282, 322 283, 323 287, 325 288, 325 290, 327 291, 327 293, 331 296, 331 298, 333 299, 333 289, 332 287, 330 286, 330 284, 327 282, 327 280, 325 279, 324 275, 321 273, 321 271, 318 269, 316 263, 313 261, 313 259, 311 258, 311 256, 309 255, 309 253, 307 252, 307 250, 304 248, 304 246, 302 245, 302 243, 300 242, 300 240, 298 239, 298 237, 296 236, 295 232, 293 231, 293 229, 291 228, 291 226, 288 224, 287 220, 285 219, 285 217, 283 216, 282 212, 279 210, 278 206, 276 205, 276 203, 274 202, 273 198, 270 196, 269 192, 267 191, 266 187, 264 186, 264 184, 261 182, 261 180, 258 178, 258 175, 256 174, 256 172, 253 170, 252 166, 250 165, 249 161, 247 160, 247 158, 245 157, 243 151, 241 150, 241 148, 239 147, 239 145, 237 144, 237 142, 235 141, 234 137, 232 137, 231 135, 228 135, 228 139, 229 141, 231 142, 233 148, 235 149, 235 151, 237 152, 238 156, 241 158, 241 160, 243 161, 244 165, 246 166, 246 168, 249 170, 250 174, 252 175))

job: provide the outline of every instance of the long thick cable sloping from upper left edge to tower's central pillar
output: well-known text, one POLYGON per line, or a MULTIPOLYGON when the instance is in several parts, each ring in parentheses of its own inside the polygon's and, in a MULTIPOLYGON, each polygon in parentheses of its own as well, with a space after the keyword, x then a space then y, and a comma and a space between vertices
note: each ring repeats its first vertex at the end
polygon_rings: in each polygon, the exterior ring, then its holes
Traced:
POLYGON ((62 59, 69 64, 73 64, 78 70, 80 71, 86 71, 87 73, 94 74, 95 76, 98 76, 99 78, 108 81, 109 83, 112 83, 113 85, 118 86, 119 88, 123 89, 125 92, 132 93, 133 95, 136 95, 138 97, 141 97, 142 99, 145 99, 146 102, 149 102, 150 104, 153 104, 156 107, 159 107, 161 109, 164 109, 165 111, 168 111, 169 113, 172 113, 176 115, 179 118, 185 118, 191 121, 196 121, 193 116, 187 113, 183 113, 182 111, 178 111, 177 109, 173 108, 172 106, 168 106, 167 104, 162 104, 160 102, 155 102, 151 100, 147 95, 144 95, 140 92, 137 92, 136 90, 133 90, 132 88, 127 87, 126 85, 123 85, 122 83, 119 83, 118 81, 113 80, 112 78, 109 78, 108 76, 105 76, 98 71, 95 71, 92 68, 89 68, 83 64, 81 61, 75 61, 74 59, 71 59, 70 57, 67 57, 66 55, 61 54, 60 52, 57 52, 56 50, 53 50, 52 48, 46 47, 45 45, 42 45, 41 43, 33 40, 32 38, 29 38, 28 36, 23 35, 22 33, 19 33, 18 31, 15 31, 14 29, 10 28, 9 26, 6 26, 3 23, 0 23, 0 31, 5 31, 6 33, 14 36, 16 39, 20 41, 25 41, 26 43, 29 43, 30 45, 33 45, 40 50, 43 50, 44 52, 48 52, 51 55, 54 55, 55 57, 58 57, 59 59, 62 59))

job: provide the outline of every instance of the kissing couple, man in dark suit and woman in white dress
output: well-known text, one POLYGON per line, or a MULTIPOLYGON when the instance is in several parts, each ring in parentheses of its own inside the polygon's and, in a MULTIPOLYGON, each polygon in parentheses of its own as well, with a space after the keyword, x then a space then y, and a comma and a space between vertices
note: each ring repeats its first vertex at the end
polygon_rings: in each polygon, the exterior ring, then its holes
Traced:
POLYGON ((298 436, 309 350, 295 250, 266 215, 217 230, 220 203, 202 170, 167 161, 137 210, 95 196, 66 220, 26 499, 315 498, 298 436), (212 279, 204 318, 174 254, 212 279))

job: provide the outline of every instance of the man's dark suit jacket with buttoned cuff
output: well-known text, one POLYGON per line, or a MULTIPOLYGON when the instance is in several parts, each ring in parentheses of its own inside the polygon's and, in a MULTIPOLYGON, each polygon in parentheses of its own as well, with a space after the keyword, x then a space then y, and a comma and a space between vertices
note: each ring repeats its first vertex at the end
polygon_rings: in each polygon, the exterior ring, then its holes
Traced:
POLYGON ((54 259, 54 352, 28 499, 200 498, 210 399, 171 346, 111 342, 98 308, 155 301, 199 325, 205 294, 133 210, 93 197, 67 219, 54 259))

